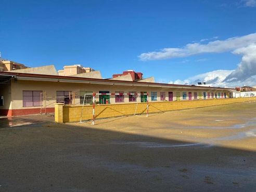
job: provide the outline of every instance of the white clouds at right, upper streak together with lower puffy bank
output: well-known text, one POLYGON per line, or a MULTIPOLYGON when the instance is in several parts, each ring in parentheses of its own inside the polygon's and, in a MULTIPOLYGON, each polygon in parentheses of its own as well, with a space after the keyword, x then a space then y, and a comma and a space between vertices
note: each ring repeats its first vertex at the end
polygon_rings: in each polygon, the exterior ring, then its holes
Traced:
MULTIPOLYGON (((161 52, 144 53, 139 57, 142 60, 166 59, 175 57, 188 57, 203 53, 223 53, 231 52, 241 55, 241 62, 233 71, 212 71, 209 73, 196 75, 187 80, 176 80, 174 83, 195 84, 197 80, 208 82, 212 86, 238 86, 256 85, 256 33, 241 37, 232 37, 224 41, 212 41, 208 44, 193 43, 182 48, 164 48, 161 52), (229 72, 227 74, 227 72, 229 72), (220 74, 219 74, 220 73, 220 74)), ((198 59, 196 61, 203 61, 198 59)))

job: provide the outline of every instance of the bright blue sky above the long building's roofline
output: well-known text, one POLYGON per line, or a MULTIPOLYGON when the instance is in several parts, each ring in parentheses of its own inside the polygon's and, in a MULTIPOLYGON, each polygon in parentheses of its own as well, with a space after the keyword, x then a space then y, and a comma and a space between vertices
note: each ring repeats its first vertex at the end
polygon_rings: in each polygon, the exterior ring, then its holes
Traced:
POLYGON ((239 52, 256 43, 256 0, 1 0, 0 12, 2 57, 30 67, 54 64, 59 70, 80 63, 104 78, 134 69, 157 82, 185 84, 199 74, 229 70, 217 73, 228 80, 220 85, 256 85, 253 55, 239 52), (232 37, 234 44, 242 38, 241 45, 223 49, 232 37), (221 50, 211 49, 212 42, 221 50), (210 50, 195 52, 190 44, 210 50), (243 64, 247 55, 252 60, 243 64), (250 74, 238 74, 238 63, 250 74), (234 75, 243 78, 234 81, 234 75))

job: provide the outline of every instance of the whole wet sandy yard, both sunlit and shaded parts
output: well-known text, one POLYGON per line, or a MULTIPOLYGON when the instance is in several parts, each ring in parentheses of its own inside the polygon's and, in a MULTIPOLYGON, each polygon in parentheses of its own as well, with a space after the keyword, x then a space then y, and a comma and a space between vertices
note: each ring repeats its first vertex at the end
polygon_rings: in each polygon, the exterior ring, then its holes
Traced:
POLYGON ((0 191, 256 191, 255 109, 0 119, 0 191))

